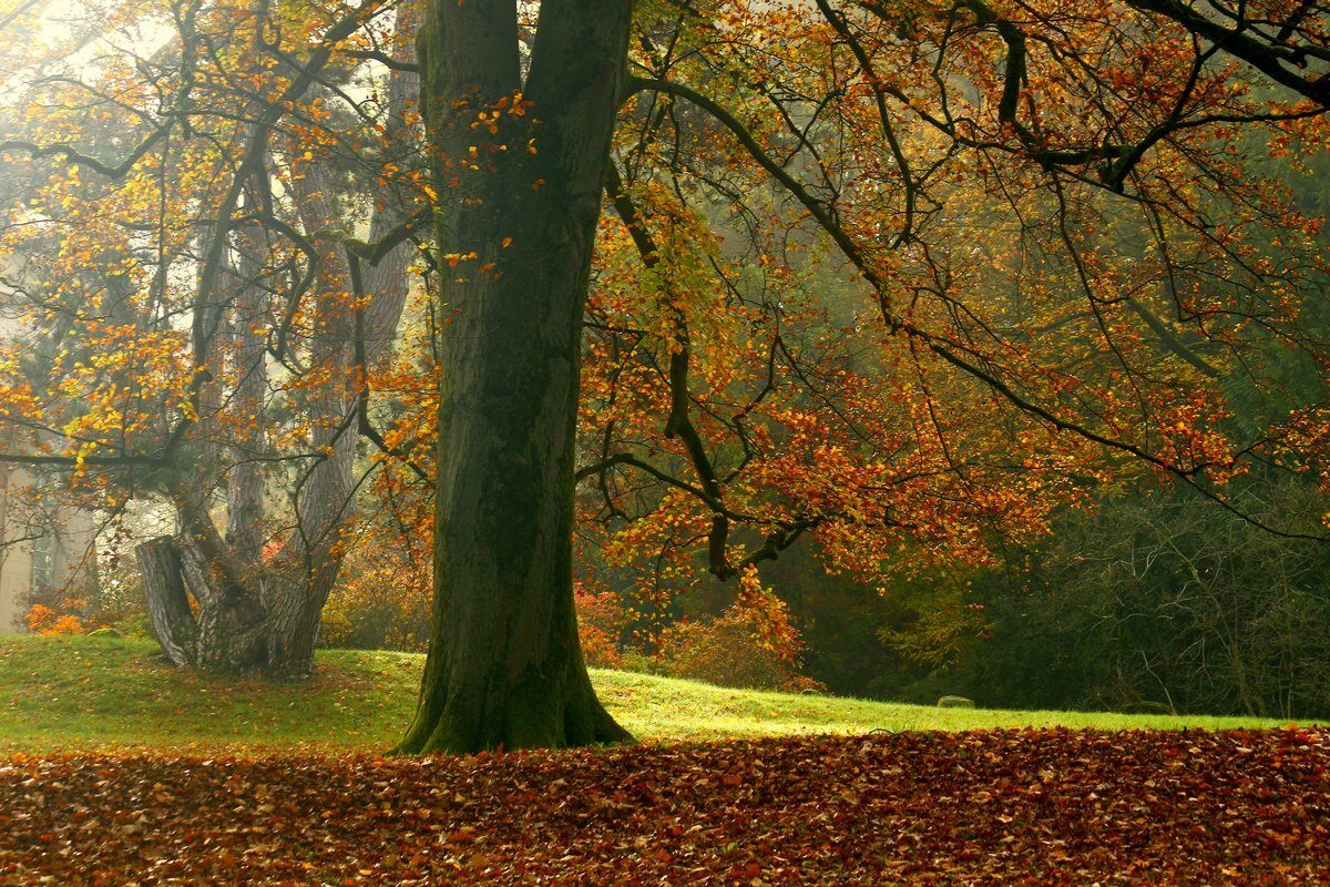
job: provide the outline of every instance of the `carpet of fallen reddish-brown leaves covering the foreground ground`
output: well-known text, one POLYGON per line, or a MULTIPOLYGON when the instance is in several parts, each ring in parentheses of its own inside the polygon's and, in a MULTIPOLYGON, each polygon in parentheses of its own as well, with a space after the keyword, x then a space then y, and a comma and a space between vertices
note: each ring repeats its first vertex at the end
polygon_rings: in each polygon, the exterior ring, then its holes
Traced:
POLYGON ((15 755, 0 884, 1326 883, 1330 731, 15 755))

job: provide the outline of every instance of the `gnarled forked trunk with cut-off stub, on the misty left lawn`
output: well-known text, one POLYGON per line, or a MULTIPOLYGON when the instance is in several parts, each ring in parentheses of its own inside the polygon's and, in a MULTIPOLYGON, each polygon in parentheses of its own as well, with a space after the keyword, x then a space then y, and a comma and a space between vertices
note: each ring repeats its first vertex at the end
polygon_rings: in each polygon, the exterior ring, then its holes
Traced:
MULTIPOLYGON (((411 39, 420 4, 403 0, 398 8, 394 55, 402 61, 412 61, 411 39)), ((403 154, 414 142, 408 121, 418 97, 419 78, 410 70, 394 70, 386 122, 403 154)), ((298 182, 293 193, 307 231, 342 226, 331 188, 319 169, 311 172, 310 181, 298 182)), ((379 207, 371 221, 371 239, 386 237, 406 218, 402 205, 379 207)), ((229 291, 237 294, 231 334, 241 382, 229 392, 229 402, 241 418, 241 432, 233 435, 229 452, 221 444, 207 451, 217 459, 231 459, 226 533, 219 535, 213 524, 206 493, 201 496, 181 483, 176 505, 185 529, 177 537, 140 545, 138 564, 153 628, 173 664, 211 673, 261 670, 291 678, 313 669, 319 618, 342 564, 340 531, 354 513, 355 355, 359 352, 372 366, 391 347, 410 286, 412 246, 400 243, 364 270, 366 291, 358 295, 372 298, 363 310, 363 323, 355 323, 346 310, 351 281, 339 249, 327 243, 319 255, 315 298, 325 322, 311 336, 311 362, 331 368, 329 382, 309 396, 311 452, 319 456, 311 459, 295 497, 295 532, 269 563, 263 559, 267 531, 261 469, 266 444, 258 422, 269 386, 267 343, 261 334, 267 303, 258 286, 263 238, 254 226, 245 226, 237 246, 239 261, 229 291), (359 347, 356 335, 363 336, 359 347)))

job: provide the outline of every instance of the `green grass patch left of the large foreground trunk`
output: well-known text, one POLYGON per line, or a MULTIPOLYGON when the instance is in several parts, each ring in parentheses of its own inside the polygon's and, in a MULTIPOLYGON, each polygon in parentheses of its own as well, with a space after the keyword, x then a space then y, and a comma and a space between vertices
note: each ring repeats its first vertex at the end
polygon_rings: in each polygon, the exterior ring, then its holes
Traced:
POLYGON ((172 668, 152 641, 4 636, 0 747, 383 747, 419 674, 419 657, 338 650, 309 681, 230 682, 172 668))

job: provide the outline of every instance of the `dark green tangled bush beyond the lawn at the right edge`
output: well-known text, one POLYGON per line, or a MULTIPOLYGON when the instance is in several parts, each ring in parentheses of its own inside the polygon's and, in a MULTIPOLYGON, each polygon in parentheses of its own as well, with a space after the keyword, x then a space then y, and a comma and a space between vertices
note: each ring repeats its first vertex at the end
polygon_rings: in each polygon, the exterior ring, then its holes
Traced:
MULTIPOLYGON (((1323 496, 1295 479, 1242 481, 1258 517, 1315 524, 1323 496)), ((1330 713, 1330 552, 1185 491, 1107 497, 976 576, 988 640, 944 678, 1029 707, 1314 718, 1330 713)))

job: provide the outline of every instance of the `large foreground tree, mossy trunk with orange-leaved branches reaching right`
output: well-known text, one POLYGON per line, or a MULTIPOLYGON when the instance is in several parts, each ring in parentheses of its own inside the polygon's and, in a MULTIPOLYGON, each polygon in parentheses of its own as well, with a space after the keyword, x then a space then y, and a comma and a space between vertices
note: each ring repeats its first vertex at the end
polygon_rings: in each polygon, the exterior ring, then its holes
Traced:
MULTIPOLYGON (((625 164, 657 160, 652 140, 668 128, 673 170, 686 169, 697 130, 676 122, 685 114, 674 100, 686 102, 734 146, 739 176, 729 185, 766 177, 798 214, 787 230, 827 238, 876 303, 890 371, 922 388, 914 443, 931 438, 944 459, 956 427, 947 398, 959 394, 966 407, 1004 414, 999 439, 1017 452, 1033 444, 1076 453, 1079 445, 1059 445, 1071 438, 1220 495, 1214 481, 1241 471, 1244 457, 1278 459, 1289 426, 1310 418, 1236 443, 1209 427, 1206 398, 1226 370, 1214 363, 1241 354, 1253 326, 1314 347, 1286 310, 1298 297, 1281 307, 1261 291, 1273 275, 1295 293, 1306 253, 1294 245, 1274 267, 1244 231, 1274 223, 1305 242, 1311 225, 1275 211, 1269 191, 1242 188, 1240 158, 1216 141, 1245 124, 1323 126, 1318 72, 1327 53, 1311 4, 1254 17, 1172 3, 1104 3, 1075 15, 986 3, 640 4, 630 60, 629 5, 549 0, 527 23, 521 4, 435 3, 422 32, 438 247, 451 267, 440 298, 452 315, 443 336, 435 636, 402 750, 624 735, 585 681, 564 547, 601 184, 644 269, 660 266, 668 249, 616 181, 609 152, 621 93, 660 100, 629 117, 642 137, 620 148, 625 164), (529 68, 519 51, 527 29, 529 68), (1225 52, 1298 93, 1294 101, 1249 100, 1225 52), (641 76, 625 80, 625 64, 641 76), (777 113, 763 117, 763 108, 777 113), (1226 189, 1236 191, 1218 209, 1193 202, 1193 191, 1226 189), (1015 249, 999 257, 998 274, 960 262, 976 215, 955 214, 958 199, 1016 213, 1015 249), (1134 254, 1092 239, 1115 225, 1120 205, 1140 211, 1132 237, 1148 246, 1134 254), (1142 255, 1148 267, 1129 274, 1142 255), (1212 274, 1228 283, 1209 285, 1212 274), (1061 298, 1067 286, 1084 302, 1061 298), (970 298, 976 290, 983 295, 970 298)), ((709 169, 688 172, 706 185, 709 169)), ((725 185, 712 193, 735 194, 725 185)), ((678 301, 688 294, 660 279, 656 289, 669 327, 657 362, 664 438, 678 442, 694 479, 632 451, 602 452, 579 475, 641 471, 701 503, 720 576, 738 567, 735 524, 765 527, 757 544, 738 545, 746 565, 805 531, 835 527, 858 539, 892 527, 890 512, 854 515, 858 500, 785 516, 730 505, 738 484, 717 473, 689 415, 692 336, 678 301)), ((742 438, 739 426, 729 428, 742 438)), ((991 489, 967 483, 956 463, 951 476, 971 495, 991 489)), ((825 476, 822 489, 837 480, 825 476)))

